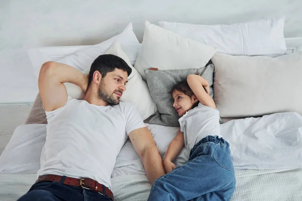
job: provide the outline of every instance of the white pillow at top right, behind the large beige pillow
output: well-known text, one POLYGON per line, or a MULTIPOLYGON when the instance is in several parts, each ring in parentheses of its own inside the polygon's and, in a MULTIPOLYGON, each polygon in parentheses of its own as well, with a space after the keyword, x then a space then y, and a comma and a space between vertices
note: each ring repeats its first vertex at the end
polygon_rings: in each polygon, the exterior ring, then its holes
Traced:
POLYGON ((279 56, 286 53, 284 16, 232 25, 193 25, 159 22, 167 30, 230 55, 279 56))

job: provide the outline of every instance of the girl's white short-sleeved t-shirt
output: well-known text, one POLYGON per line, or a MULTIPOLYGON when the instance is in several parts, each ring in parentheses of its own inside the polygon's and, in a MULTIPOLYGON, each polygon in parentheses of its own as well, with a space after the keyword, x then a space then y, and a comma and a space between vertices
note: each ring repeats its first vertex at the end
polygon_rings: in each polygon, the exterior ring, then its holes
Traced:
POLYGON ((178 122, 189 152, 197 142, 208 135, 220 137, 219 111, 201 103, 179 118, 178 122))

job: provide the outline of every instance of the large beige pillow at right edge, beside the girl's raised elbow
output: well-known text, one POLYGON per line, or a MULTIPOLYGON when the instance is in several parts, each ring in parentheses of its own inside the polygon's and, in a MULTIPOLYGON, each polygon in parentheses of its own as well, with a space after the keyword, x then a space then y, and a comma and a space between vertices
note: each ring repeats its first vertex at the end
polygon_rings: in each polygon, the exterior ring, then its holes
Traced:
POLYGON ((302 52, 275 58, 216 53, 212 62, 221 118, 302 114, 302 52))

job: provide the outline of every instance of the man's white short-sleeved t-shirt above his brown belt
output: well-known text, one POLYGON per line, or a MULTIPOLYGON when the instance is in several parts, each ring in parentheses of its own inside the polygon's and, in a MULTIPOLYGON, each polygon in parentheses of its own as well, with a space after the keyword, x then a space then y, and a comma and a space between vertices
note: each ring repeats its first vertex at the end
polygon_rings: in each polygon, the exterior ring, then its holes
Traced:
POLYGON ((88 177, 111 188, 116 157, 128 134, 145 127, 130 103, 96 106, 68 97, 66 105, 46 112, 47 135, 37 175, 88 177))

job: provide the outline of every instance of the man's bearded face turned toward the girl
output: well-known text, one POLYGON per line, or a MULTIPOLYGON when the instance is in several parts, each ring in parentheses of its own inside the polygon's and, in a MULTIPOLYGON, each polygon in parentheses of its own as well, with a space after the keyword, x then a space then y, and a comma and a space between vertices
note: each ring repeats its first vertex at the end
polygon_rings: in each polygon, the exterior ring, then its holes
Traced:
POLYGON ((128 82, 126 71, 115 68, 108 72, 100 81, 98 97, 108 104, 117 105, 123 92, 126 90, 125 84, 128 82))

